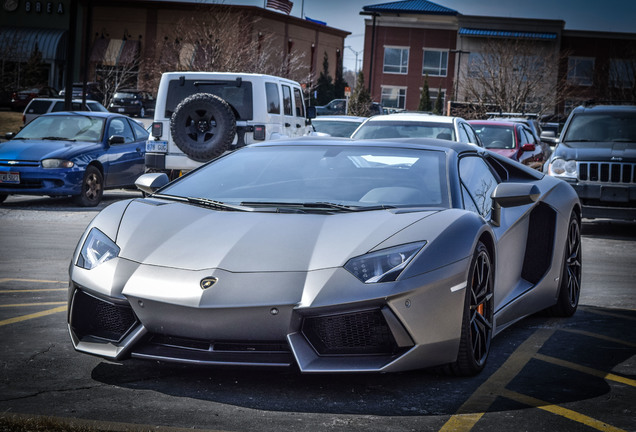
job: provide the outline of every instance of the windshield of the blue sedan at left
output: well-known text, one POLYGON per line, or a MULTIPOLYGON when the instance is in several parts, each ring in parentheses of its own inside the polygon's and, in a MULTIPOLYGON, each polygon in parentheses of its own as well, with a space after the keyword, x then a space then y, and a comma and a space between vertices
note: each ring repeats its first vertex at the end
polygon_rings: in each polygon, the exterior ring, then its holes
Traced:
POLYGON ((13 139, 98 142, 104 119, 87 115, 40 116, 26 125, 13 139))

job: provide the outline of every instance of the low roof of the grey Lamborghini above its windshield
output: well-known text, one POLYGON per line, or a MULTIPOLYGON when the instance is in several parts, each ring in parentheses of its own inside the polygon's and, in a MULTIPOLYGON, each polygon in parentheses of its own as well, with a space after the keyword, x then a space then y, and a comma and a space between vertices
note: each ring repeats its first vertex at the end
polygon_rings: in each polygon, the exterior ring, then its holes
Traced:
POLYGON ((486 150, 474 144, 448 141, 435 138, 390 138, 390 139, 351 139, 338 137, 302 136, 298 138, 271 140, 248 147, 285 147, 285 146, 360 146, 360 147, 400 147, 411 149, 441 150, 456 153, 478 152, 486 150))

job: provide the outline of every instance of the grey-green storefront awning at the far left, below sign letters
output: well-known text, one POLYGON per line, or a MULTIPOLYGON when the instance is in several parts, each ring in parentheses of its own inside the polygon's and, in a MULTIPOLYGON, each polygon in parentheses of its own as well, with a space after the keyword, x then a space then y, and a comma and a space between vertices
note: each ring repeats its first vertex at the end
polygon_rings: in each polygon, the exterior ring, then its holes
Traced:
POLYGON ((66 60, 66 30, 27 27, 0 28, 0 53, 5 60, 27 62, 35 48, 44 62, 66 60))

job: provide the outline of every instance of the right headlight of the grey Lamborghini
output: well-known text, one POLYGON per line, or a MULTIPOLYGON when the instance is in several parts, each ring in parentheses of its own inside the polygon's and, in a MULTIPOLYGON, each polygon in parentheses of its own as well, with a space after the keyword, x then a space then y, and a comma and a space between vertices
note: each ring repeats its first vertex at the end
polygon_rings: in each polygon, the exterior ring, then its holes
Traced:
POLYGON ((392 282, 425 244, 425 241, 409 243, 372 252, 351 258, 344 267, 364 283, 392 282))

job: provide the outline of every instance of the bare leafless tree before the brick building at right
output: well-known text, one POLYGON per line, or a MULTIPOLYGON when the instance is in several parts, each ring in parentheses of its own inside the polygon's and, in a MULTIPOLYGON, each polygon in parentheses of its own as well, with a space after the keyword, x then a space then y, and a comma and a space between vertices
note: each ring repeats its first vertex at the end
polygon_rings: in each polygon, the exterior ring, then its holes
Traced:
POLYGON ((551 113, 566 95, 559 77, 564 54, 549 43, 485 39, 460 73, 463 99, 502 112, 551 113))

